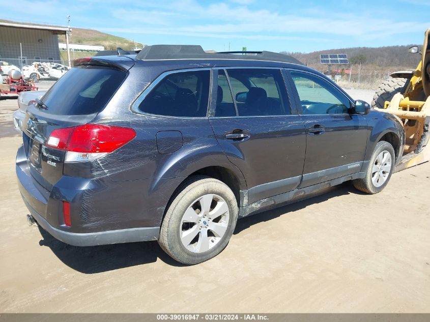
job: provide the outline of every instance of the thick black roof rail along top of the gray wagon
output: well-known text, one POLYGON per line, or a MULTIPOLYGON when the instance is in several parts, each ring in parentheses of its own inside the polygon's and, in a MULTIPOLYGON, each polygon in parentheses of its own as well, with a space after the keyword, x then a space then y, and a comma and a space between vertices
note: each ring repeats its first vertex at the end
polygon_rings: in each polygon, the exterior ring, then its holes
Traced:
POLYGON ((271 51, 223 51, 208 53, 198 45, 152 45, 146 46, 136 56, 140 60, 183 60, 183 59, 221 59, 221 60, 263 60, 303 65, 296 58, 271 51), (236 55, 235 53, 248 53, 236 55), (249 54, 250 53, 250 54, 249 54))

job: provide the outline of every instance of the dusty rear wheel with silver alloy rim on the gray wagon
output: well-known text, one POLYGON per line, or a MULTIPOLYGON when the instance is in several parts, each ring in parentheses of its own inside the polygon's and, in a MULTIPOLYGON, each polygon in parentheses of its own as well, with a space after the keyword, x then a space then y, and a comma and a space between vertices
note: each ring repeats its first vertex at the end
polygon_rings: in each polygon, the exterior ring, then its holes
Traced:
POLYGON ((206 261, 228 244, 238 212, 236 197, 223 182, 203 175, 190 177, 168 206, 158 243, 183 264, 206 261))

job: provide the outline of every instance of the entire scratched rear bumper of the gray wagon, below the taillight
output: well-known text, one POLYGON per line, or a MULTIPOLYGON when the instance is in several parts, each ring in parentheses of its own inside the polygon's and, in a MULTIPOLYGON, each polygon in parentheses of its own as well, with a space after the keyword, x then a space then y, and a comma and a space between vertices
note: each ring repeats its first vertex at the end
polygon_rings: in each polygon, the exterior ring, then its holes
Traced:
MULTIPOLYGON (((118 190, 127 187, 128 183, 119 185, 100 179, 72 180, 70 177, 63 177, 65 182, 60 180, 53 186, 52 191, 48 191, 32 177, 23 147, 19 148, 17 153, 16 175, 19 191, 28 211, 42 228, 64 243, 95 246, 158 239, 160 219, 145 215, 148 211, 142 211, 142 203, 127 199, 126 196, 131 195, 130 193, 116 199, 106 194, 107 190, 112 190, 118 196, 118 190), (89 191, 95 195, 89 196, 89 191), (64 224, 63 200, 71 204, 72 227, 64 224), (91 209, 83 212, 86 208, 91 209)), ((132 188, 136 191, 135 186, 132 188)))

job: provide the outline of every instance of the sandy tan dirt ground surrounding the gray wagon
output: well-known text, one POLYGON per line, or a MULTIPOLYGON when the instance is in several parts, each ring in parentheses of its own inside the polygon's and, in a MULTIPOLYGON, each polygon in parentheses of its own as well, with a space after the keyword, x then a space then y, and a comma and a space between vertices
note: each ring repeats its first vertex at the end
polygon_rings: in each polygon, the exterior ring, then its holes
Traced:
POLYGON ((344 184, 242 219, 220 255, 185 267, 156 242, 79 248, 29 227, 21 139, 3 131, 16 106, 0 100, 0 312, 430 311, 430 163, 376 195, 344 184))

